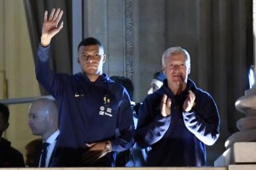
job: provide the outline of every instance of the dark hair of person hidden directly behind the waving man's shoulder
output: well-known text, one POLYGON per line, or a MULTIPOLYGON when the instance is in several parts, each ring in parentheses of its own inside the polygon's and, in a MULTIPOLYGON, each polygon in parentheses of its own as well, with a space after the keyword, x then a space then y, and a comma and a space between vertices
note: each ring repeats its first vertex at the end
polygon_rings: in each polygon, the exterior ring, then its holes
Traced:
POLYGON ((131 98, 131 100, 133 99, 133 91, 134 91, 134 87, 133 87, 133 83, 131 82, 131 80, 127 77, 118 77, 118 76, 113 76, 110 77, 114 82, 117 82, 119 84, 121 84, 122 86, 124 86, 131 98))

